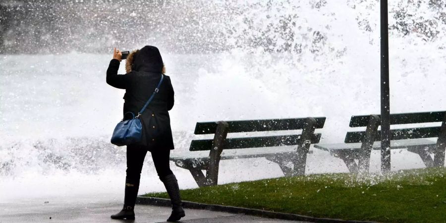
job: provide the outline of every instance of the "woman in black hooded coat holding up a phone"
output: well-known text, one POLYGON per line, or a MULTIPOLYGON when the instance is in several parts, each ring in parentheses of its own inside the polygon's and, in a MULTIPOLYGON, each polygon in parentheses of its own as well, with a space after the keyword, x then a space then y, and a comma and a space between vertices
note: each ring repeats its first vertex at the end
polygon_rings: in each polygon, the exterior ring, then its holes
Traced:
MULTIPOLYGON (((133 51, 125 64, 126 74, 118 75, 121 52, 114 48, 113 59, 107 69, 107 83, 115 88, 125 89, 124 109, 138 114, 155 91, 166 69, 160 51, 153 46, 145 46, 133 51)), ((112 215, 112 219, 135 219, 135 201, 138 194, 141 169, 147 151, 152 153, 158 176, 166 186, 172 203, 172 213, 168 222, 184 217, 181 207, 178 182, 169 167, 169 153, 173 150, 172 131, 168 111, 173 107, 173 88, 170 77, 164 77, 158 93, 147 109, 141 114, 143 125, 142 145, 127 146, 127 169, 123 209, 112 215)), ((126 118, 126 117, 124 117, 126 118)))

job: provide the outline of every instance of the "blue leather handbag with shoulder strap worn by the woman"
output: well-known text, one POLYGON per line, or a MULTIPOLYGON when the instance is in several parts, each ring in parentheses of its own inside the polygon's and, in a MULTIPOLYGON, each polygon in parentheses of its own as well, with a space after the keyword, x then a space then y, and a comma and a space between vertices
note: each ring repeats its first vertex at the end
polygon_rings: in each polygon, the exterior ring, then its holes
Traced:
POLYGON ((158 83, 157 88, 153 92, 152 96, 150 96, 149 100, 146 102, 141 111, 136 115, 131 111, 125 112, 124 117, 127 113, 131 113, 133 117, 128 120, 124 120, 124 118, 117 123, 116 127, 114 127, 113 134, 111 135, 111 143, 116 146, 126 146, 130 144, 137 144, 141 142, 142 138, 142 124, 139 116, 141 113, 146 110, 147 106, 152 101, 153 97, 156 93, 158 93, 161 83, 163 83, 164 75, 161 74, 160 83, 158 83))

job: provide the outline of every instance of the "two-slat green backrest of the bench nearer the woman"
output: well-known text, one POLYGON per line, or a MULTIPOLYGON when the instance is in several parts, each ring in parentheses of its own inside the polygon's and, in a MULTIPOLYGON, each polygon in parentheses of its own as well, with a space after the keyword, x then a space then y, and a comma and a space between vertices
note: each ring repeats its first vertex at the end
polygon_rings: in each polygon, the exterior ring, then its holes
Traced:
MULTIPOLYGON (((260 131, 281 131, 281 130, 299 130, 304 129, 309 122, 316 128, 323 128, 325 117, 314 118, 286 118, 286 119, 260 119, 260 120, 239 120, 225 121, 227 123, 227 133, 237 132, 260 132, 260 131)), ((219 122, 197 122, 195 126, 195 134, 215 134, 219 122)), ((311 143, 319 143, 321 139, 320 133, 312 133, 311 143)), ((211 150, 213 139, 192 140, 190 151, 211 150)), ((243 137, 243 138, 226 138, 223 149, 242 149, 257 147, 273 147, 298 145, 301 142, 301 135, 275 135, 261 137, 243 137)))

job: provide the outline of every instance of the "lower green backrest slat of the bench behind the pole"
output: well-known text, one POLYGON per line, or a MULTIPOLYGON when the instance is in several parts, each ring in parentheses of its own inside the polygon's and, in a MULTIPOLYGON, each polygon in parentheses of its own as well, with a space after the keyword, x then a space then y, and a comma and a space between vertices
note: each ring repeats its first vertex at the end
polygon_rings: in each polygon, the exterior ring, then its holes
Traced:
MULTIPOLYGON (((442 117, 443 118, 443 117, 442 117)), ((423 128, 402 128, 391 129, 390 140, 401 139, 418 139, 418 138, 434 138, 438 137, 440 133, 440 126, 438 127, 423 127, 423 128)), ((345 136, 345 143, 362 142, 365 136, 365 131, 347 132, 345 136)), ((381 140, 381 130, 375 135, 375 141, 381 140)))

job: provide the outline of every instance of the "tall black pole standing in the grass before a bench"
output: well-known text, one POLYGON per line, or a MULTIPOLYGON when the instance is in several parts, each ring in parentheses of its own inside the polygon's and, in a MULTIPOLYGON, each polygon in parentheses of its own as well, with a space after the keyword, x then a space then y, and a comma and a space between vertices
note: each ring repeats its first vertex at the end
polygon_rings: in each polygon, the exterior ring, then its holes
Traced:
POLYGON ((381 172, 390 171, 389 23, 387 0, 381 0, 381 172))

